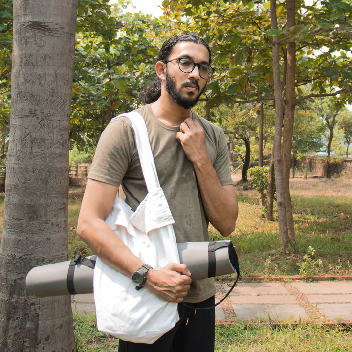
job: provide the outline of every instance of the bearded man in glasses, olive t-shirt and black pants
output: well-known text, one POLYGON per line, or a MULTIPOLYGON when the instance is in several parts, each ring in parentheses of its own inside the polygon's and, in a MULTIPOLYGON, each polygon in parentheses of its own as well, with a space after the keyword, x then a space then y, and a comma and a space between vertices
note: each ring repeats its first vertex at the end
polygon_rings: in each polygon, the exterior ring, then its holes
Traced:
MULTIPOLYGON (((177 242, 208 241, 209 222, 228 236, 238 215, 224 133, 190 110, 213 73, 210 63, 210 49, 198 36, 169 38, 155 65, 158 80, 144 93, 150 104, 137 109, 146 121, 177 242)), ((99 140, 77 232, 103 261, 132 277, 148 263, 135 257, 105 223, 120 184, 135 210, 147 189, 126 118, 111 122, 99 140)), ((215 309, 199 309, 214 306, 214 280, 192 282, 190 274, 186 265, 176 263, 147 271, 143 289, 177 302, 180 320, 152 345, 120 340, 119 352, 214 351, 215 309)))

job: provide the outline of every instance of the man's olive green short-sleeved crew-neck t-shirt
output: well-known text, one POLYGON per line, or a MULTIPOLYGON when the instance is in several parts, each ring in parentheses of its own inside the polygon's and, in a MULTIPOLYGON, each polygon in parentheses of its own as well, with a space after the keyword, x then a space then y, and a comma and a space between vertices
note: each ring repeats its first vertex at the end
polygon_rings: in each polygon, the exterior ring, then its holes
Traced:
MULTIPOLYGON (((136 110, 147 125, 156 170, 173 218, 176 241, 208 241, 208 220, 204 213, 196 173, 176 139, 179 127, 170 127, 154 115, 150 104, 136 110)), ((225 135, 217 127, 192 112, 205 131, 210 160, 222 185, 232 185, 225 135)), ((102 133, 89 178, 115 186, 121 184, 126 203, 135 210, 147 195, 131 122, 114 119, 102 133)), ((185 302, 201 302, 216 293, 213 279, 192 282, 185 302)))

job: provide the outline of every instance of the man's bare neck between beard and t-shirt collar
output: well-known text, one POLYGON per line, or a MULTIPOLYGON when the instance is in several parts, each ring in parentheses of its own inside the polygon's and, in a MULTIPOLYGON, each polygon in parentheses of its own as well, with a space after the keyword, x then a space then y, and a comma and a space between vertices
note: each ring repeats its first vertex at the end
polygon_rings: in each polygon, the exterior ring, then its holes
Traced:
POLYGON ((180 107, 168 94, 161 94, 151 107, 160 122, 168 126, 179 126, 184 120, 192 117, 191 109, 180 107))

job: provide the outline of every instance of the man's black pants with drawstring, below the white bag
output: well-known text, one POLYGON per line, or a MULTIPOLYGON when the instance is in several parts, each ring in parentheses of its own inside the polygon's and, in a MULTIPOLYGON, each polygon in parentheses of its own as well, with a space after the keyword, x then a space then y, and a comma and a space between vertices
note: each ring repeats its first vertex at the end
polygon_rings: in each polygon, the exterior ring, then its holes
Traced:
POLYGON ((118 352, 214 352, 215 308, 214 296, 199 303, 178 304, 179 321, 175 327, 153 344, 120 340, 118 352))

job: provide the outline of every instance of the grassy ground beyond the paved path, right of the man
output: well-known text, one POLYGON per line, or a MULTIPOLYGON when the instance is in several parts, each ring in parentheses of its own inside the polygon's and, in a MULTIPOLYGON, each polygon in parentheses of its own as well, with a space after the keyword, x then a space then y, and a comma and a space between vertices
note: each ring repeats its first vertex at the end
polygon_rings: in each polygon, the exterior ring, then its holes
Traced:
MULTIPOLYGON (((237 228, 232 234, 242 277, 296 276, 308 247, 314 260, 322 260, 313 275, 352 275, 351 179, 308 178, 291 180, 291 199, 297 253, 283 252, 277 221, 268 221, 258 206, 255 190, 235 185, 239 200, 237 228)), ((211 238, 220 234, 211 228, 211 238)))

